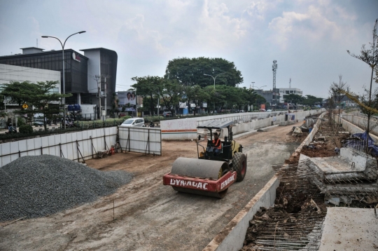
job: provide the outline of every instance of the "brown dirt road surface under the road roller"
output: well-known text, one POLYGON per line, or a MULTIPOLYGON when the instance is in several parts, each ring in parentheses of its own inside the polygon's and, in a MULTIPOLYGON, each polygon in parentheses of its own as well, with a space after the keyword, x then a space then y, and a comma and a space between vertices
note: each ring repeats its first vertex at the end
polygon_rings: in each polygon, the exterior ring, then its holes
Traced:
POLYGON ((248 169, 244 181, 232 184, 222 199, 162 185, 176 158, 197 158, 195 142, 165 141, 163 156, 120 153, 87 161, 103 171, 133 172, 134 179, 94 203, 2 222, 0 250, 202 250, 274 175, 271 166, 283 163, 303 140, 292 137, 290 129, 274 127, 237 139, 248 154, 248 169))

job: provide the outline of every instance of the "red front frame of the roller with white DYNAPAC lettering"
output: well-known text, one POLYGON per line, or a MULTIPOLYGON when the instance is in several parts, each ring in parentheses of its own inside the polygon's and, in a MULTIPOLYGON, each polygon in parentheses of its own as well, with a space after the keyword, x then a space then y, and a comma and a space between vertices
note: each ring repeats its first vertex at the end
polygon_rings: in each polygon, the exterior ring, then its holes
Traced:
POLYGON ((178 186, 186 189, 200 191, 221 192, 228 189, 232 183, 236 182, 237 172, 227 172, 220 179, 193 178, 181 175, 172 175, 171 172, 163 176, 163 184, 167 186, 178 186))

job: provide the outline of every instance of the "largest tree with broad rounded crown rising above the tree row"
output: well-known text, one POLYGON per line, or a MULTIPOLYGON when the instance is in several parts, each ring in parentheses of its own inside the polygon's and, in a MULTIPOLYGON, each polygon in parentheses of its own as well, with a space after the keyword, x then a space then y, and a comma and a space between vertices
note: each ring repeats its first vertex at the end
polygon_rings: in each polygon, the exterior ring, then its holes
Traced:
POLYGON ((237 86, 243 83, 241 72, 235 64, 223 58, 195 57, 176 58, 169 60, 165 71, 165 78, 179 81, 183 86, 214 86, 214 79, 209 74, 216 76, 216 85, 237 86))

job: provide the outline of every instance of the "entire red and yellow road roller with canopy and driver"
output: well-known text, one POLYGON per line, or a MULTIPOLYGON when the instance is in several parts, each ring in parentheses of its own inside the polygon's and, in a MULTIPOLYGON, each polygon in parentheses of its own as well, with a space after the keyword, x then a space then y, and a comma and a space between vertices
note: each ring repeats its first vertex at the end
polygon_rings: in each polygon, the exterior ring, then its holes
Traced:
POLYGON ((198 136, 197 158, 179 157, 171 172, 163 176, 163 184, 179 192, 223 198, 228 187, 241 182, 246 176, 247 156, 243 146, 232 139, 233 121, 209 121, 203 128, 210 138, 198 136), (227 128, 226 130, 222 130, 227 128), (217 144, 219 134, 225 134, 221 146, 217 144))

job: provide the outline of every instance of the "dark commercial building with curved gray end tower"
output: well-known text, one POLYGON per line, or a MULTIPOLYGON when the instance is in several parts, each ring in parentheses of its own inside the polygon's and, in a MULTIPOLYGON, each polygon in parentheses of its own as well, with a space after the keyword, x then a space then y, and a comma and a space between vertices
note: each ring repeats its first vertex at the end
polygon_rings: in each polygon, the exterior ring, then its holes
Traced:
MULTIPOLYGON (((22 53, 0 57, 0 64, 49 69, 61 72, 59 81, 63 88, 62 50, 43 51, 42 48, 21 48, 22 53)), ((113 104, 116 92, 118 55, 106 48, 83 49, 80 54, 72 49, 64 49, 64 83, 66 104, 97 104, 106 106, 107 114, 113 104), (106 105, 105 105, 106 100, 106 105)), ((100 114, 99 109, 97 114, 100 114)))

